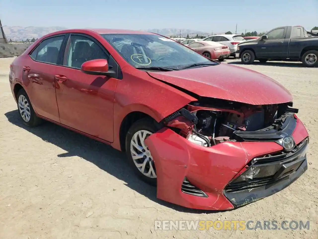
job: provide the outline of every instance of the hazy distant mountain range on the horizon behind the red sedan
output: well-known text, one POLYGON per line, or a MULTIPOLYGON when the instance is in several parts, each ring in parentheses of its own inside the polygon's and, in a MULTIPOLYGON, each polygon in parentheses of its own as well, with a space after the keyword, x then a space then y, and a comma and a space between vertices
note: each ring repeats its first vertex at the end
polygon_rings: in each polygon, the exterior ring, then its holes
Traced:
MULTIPOLYGON (((32 38, 40 38, 48 33, 52 33, 55 31, 60 31, 67 29, 66 27, 62 26, 50 26, 50 27, 38 27, 38 26, 28 26, 28 27, 22 27, 22 26, 3 26, 4 34, 8 39, 12 40, 26 40, 32 39, 32 38)), ((164 29, 148 29, 143 30, 147 32, 153 32, 153 33, 159 33, 163 36, 175 36, 175 37, 186 37, 188 34, 190 37, 198 35, 202 36, 208 36, 211 35, 211 33, 205 33, 202 31, 197 30, 191 30, 191 29, 177 29, 177 28, 164 28, 164 29)))

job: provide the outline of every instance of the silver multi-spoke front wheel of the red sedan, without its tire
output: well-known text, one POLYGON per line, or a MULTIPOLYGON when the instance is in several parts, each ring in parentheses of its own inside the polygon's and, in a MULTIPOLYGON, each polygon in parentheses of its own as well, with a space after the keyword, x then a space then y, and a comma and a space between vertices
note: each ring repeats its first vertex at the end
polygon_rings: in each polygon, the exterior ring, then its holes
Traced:
POLYGON ((137 131, 130 141, 130 153, 137 169, 146 177, 156 178, 156 169, 145 139, 152 133, 148 130, 137 131))

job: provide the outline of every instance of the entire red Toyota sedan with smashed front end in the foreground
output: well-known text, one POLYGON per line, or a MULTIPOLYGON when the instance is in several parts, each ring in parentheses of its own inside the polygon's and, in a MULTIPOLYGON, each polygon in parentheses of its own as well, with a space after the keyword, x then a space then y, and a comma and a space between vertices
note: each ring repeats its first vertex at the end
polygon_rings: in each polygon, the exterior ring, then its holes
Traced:
POLYGON ((125 151, 157 197, 225 210, 307 169, 308 132, 273 79, 154 33, 50 33, 10 66, 25 125, 43 120, 125 151))

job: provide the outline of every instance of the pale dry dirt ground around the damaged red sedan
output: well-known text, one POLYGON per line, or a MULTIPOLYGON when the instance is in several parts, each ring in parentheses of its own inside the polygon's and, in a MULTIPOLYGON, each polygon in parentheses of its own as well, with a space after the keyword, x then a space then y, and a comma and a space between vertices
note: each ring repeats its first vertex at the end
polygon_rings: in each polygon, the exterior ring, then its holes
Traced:
POLYGON ((318 69, 301 63, 240 65, 282 83, 294 95, 311 136, 308 170, 286 189, 226 212, 190 210, 156 199, 125 156, 52 123, 22 125, 0 59, 0 238, 318 238, 318 69), (154 220, 310 221, 309 230, 154 230, 154 220))

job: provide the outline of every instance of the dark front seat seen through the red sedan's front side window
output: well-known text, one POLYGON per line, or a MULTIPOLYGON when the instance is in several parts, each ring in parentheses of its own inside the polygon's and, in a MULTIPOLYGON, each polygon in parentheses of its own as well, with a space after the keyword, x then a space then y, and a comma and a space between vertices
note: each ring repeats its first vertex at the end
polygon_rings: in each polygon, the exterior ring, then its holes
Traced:
POLYGON ((72 55, 72 67, 81 68, 82 64, 89 60, 91 55, 91 46, 87 41, 78 41, 72 55))

